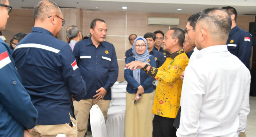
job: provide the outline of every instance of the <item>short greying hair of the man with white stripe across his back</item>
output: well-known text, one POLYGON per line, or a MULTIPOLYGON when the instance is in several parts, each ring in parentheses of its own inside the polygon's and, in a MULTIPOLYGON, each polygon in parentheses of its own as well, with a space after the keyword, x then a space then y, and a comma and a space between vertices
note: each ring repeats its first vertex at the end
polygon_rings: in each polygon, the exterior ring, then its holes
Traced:
POLYGON ((52 14, 61 14, 59 6, 52 0, 42 0, 34 7, 34 20, 44 21, 52 14))

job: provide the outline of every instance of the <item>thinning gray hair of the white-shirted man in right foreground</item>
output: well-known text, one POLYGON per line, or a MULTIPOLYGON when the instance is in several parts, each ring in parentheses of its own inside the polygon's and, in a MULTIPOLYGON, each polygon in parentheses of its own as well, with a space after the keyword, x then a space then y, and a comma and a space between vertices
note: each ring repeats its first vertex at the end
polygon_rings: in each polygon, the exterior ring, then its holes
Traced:
POLYGON ((197 22, 203 22, 211 36, 220 40, 227 40, 231 30, 230 15, 223 9, 208 8, 200 12, 197 22))

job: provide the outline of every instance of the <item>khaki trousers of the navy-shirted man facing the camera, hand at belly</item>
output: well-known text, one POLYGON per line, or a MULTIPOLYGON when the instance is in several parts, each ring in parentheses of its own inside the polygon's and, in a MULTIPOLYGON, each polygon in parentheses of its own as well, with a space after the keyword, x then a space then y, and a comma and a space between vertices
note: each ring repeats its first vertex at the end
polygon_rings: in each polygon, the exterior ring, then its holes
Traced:
POLYGON ((95 99, 82 99, 79 102, 73 102, 78 129, 77 137, 84 137, 85 132, 87 131, 87 123, 91 107, 97 104, 100 107, 104 118, 106 119, 110 101, 111 100, 104 99, 100 101, 95 101, 95 99))

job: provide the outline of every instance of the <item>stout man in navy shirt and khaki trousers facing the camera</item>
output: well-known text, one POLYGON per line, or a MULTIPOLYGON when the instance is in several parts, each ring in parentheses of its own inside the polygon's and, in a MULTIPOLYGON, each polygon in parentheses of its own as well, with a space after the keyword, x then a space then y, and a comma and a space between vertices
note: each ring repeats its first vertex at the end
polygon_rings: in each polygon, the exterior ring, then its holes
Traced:
POLYGON ((74 55, 87 91, 87 96, 81 101, 74 101, 78 137, 85 135, 89 110, 93 105, 98 105, 106 118, 111 101, 110 87, 117 81, 117 56, 113 44, 104 41, 107 31, 104 20, 94 19, 91 22, 91 37, 78 41, 74 47, 74 55))

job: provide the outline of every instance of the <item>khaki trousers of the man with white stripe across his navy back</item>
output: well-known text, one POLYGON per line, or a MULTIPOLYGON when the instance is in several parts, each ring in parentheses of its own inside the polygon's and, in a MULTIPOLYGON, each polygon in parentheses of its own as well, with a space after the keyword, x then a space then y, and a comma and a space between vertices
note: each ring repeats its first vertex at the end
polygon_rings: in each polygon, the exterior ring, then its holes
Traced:
POLYGON ((77 137, 76 121, 70 116, 70 120, 75 124, 73 128, 69 123, 54 124, 54 125, 41 125, 37 124, 30 133, 30 137, 56 137, 58 134, 65 134, 67 137, 77 137))

